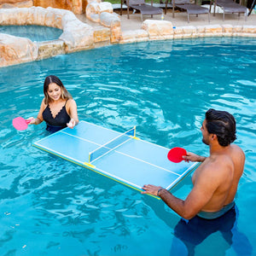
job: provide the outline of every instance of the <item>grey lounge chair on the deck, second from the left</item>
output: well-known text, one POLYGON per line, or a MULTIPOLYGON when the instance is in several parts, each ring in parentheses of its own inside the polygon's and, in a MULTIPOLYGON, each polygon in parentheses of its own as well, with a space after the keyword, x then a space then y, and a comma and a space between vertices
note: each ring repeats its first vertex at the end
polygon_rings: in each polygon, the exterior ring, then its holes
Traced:
MULTIPOLYGON (((208 21, 210 22, 210 12, 209 9, 205 7, 201 7, 195 3, 190 3, 189 0, 171 0, 172 1, 172 17, 174 18, 174 9, 178 7, 180 9, 184 9, 188 14, 188 22, 189 15, 208 15, 208 21)), ((168 0, 166 0, 166 9, 167 9, 168 0)))

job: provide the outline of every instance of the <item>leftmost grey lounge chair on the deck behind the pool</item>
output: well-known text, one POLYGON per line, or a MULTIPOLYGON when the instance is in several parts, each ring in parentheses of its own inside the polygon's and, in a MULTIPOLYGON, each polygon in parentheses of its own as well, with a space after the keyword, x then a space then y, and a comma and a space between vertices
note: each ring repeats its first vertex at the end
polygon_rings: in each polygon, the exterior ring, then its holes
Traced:
POLYGON ((151 0, 151 5, 146 4, 145 0, 126 0, 127 5, 127 16, 130 19, 129 9, 138 10, 141 13, 142 21, 143 15, 163 15, 163 9, 153 6, 153 0, 151 0))

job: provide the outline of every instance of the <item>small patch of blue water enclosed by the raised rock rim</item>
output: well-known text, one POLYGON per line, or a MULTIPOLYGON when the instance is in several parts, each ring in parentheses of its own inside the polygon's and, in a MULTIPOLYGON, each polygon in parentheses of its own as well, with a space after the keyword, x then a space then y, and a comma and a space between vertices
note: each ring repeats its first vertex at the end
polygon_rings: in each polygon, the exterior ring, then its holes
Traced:
POLYGON ((49 26, 0 26, 0 33, 20 38, 29 38, 33 42, 49 41, 60 38, 62 30, 49 26))

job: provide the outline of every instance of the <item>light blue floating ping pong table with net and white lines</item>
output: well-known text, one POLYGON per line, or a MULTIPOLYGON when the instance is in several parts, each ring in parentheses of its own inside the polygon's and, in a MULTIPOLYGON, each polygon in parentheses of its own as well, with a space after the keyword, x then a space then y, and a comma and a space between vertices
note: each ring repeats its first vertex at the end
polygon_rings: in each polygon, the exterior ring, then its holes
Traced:
POLYGON ((143 191, 144 184, 172 189, 198 163, 172 163, 168 148, 136 137, 136 127, 125 133, 80 121, 44 137, 33 146, 143 191))

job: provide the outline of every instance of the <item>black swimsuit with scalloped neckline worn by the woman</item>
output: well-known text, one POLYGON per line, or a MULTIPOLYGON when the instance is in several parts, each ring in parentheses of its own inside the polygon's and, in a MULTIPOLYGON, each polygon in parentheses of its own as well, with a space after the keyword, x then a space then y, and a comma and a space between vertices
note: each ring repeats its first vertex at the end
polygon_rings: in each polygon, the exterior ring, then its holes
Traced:
POLYGON ((60 112, 56 114, 53 118, 52 113, 50 112, 49 105, 44 109, 43 119, 46 122, 46 130, 55 132, 60 131, 61 129, 67 127, 67 123, 70 121, 70 116, 67 113, 66 104, 61 108, 60 112))

